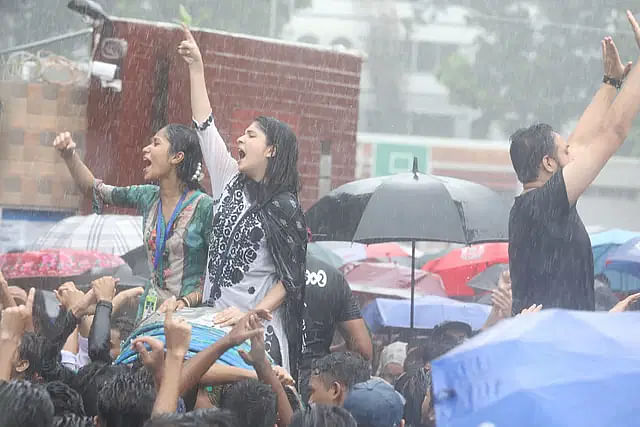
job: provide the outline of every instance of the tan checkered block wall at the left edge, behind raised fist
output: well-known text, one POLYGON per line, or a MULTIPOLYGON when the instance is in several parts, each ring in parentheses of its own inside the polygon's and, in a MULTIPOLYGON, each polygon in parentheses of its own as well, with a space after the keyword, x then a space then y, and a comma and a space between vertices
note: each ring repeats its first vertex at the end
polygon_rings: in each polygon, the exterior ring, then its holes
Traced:
POLYGON ((0 205, 77 209, 78 192, 52 143, 69 130, 83 155, 86 88, 2 81, 0 101, 0 205))

